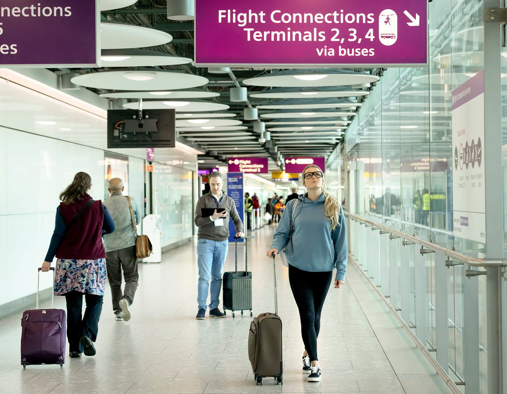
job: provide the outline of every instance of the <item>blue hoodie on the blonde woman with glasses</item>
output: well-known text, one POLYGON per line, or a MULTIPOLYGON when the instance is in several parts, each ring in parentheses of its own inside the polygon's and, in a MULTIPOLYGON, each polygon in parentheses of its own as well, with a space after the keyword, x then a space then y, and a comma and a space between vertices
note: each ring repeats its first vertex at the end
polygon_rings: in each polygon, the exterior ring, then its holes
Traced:
POLYGON ((296 201, 287 203, 271 248, 277 249, 278 253, 285 248, 289 263, 304 271, 332 271, 336 267, 335 280, 345 281, 347 234, 341 206, 338 217, 340 225, 331 231, 331 221, 325 217, 324 212, 324 194, 315 201, 301 194, 294 212, 294 232, 291 239, 291 215, 296 201))

